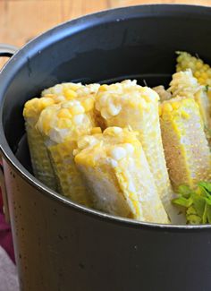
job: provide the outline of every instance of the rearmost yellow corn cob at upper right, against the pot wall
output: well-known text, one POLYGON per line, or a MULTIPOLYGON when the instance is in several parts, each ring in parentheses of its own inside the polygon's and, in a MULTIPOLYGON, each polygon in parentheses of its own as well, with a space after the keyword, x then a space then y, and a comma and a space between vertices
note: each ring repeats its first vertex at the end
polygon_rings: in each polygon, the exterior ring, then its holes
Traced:
POLYGON ((199 84, 211 86, 211 68, 208 64, 187 52, 177 52, 177 54, 179 55, 176 65, 177 72, 190 69, 199 84))

